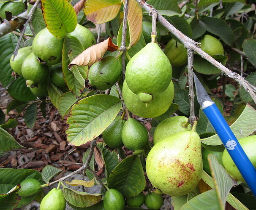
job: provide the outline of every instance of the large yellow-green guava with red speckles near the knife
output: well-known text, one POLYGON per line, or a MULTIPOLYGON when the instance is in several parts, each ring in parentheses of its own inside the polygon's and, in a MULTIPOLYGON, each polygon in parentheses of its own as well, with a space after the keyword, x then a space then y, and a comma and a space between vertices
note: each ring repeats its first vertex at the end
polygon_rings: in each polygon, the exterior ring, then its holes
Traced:
POLYGON ((182 196, 199 183, 202 153, 199 135, 181 131, 153 146, 147 155, 147 177, 155 188, 169 196, 182 196))

